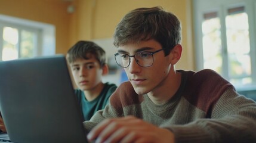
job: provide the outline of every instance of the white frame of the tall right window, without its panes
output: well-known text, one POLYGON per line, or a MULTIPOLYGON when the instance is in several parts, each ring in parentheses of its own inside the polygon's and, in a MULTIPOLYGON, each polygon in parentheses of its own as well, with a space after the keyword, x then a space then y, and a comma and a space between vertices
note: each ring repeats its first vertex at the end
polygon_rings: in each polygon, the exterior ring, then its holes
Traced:
MULTIPOLYGON (((251 56, 251 72, 252 85, 250 86, 236 86, 238 91, 255 90, 256 89, 256 1, 254 0, 193 0, 193 15, 195 28, 195 53, 196 53, 196 70, 203 69, 203 50, 202 50, 202 21, 203 14, 217 12, 221 21, 221 45, 223 46, 223 68, 227 66, 227 39, 226 39, 226 22, 225 18, 227 10, 235 7, 245 7, 245 12, 248 14, 249 23, 249 38, 250 38, 250 56, 251 56), (224 25, 224 26, 223 26, 224 25)), ((227 71, 227 69, 223 69, 227 71)), ((224 78, 229 80, 227 72, 223 72, 224 78)))

